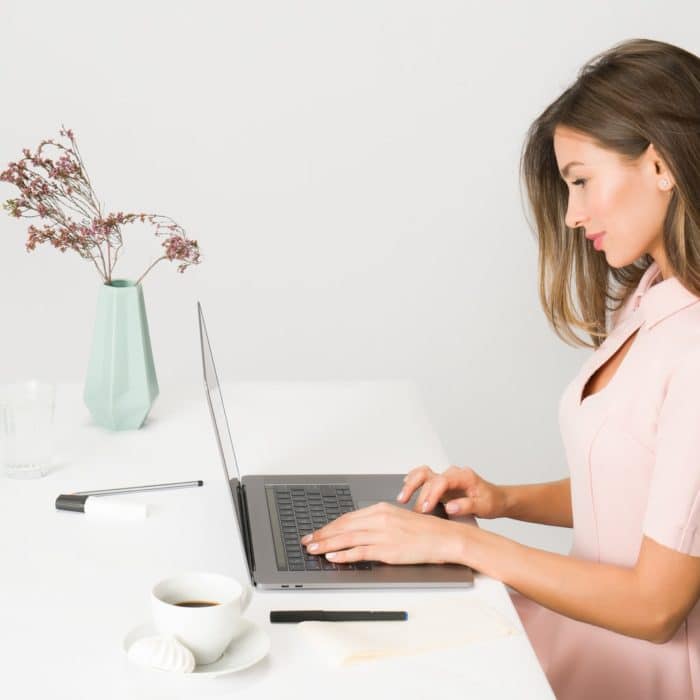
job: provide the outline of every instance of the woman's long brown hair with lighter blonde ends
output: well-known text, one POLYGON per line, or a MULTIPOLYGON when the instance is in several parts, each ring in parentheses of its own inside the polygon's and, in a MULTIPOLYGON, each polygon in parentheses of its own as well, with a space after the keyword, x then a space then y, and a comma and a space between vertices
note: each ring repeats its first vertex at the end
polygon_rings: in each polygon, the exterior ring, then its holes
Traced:
POLYGON ((588 61, 528 130, 520 168, 539 244, 540 303, 562 340, 596 348, 609 332, 606 313, 624 304, 653 259, 644 254, 613 268, 580 227, 566 226, 568 192, 554 155, 556 126, 588 135, 627 162, 654 144, 675 180, 663 230, 668 263, 678 281, 700 296, 700 58, 651 39, 616 44, 588 61), (574 328, 587 332, 592 345, 574 328))

